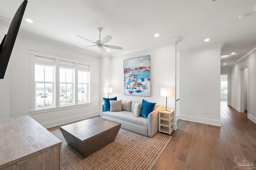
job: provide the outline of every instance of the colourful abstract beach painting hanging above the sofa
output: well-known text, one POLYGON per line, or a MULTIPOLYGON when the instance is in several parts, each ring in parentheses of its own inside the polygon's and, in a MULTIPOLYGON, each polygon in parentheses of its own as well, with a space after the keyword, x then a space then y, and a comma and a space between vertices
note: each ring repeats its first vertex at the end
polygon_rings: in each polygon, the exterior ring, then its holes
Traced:
POLYGON ((124 60, 124 95, 151 95, 150 56, 124 60))

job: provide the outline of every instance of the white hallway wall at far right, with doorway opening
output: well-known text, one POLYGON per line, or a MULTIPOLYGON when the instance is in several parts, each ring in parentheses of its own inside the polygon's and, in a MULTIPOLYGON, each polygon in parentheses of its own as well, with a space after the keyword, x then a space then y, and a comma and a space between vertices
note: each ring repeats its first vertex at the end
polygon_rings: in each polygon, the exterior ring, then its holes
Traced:
POLYGON ((240 70, 248 64, 248 80, 249 80, 249 102, 248 102, 248 118, 256 122, 256 52, 250 54, 244 60, 236 63, 231 69, 231 106, 236 110, 240 110, 240 70))

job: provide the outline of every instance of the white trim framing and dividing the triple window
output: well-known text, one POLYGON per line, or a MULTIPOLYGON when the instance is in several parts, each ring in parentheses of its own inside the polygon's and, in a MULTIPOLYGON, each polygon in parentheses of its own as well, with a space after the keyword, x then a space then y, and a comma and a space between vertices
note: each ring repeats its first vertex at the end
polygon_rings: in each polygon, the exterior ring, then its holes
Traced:
MULTIPOLYGON (((88 65, 88 66, 92 66, 91 62, 84 62, 84 61, 80 61, 80 60, 74 60, 74 59, 70 59, 70 58, 65 58, 65 57, 61 57, 61 56, 55 56, 55 55, 51 55, 51 54, 46 54, 46 53, 42 53, 42 52, 36 52, 36 51, 32 51, 30 52, 30 56, 31 56, 31 104, 30 104, 30 113, 31 114, 37 114, 37 113, 43 113, 43 112, 51 112, 51 111, 55 111, 55 110, 62 110, 62 109, 68 109, 68 108, 76 108, 76 107, 81 107, 81 106, 89 106, 92 105, 92 103, 90 102, 90 90, 88 90, 88 102, 86 103, 79 103, 78 104, 78 99, 76 98, 76 93, 78 92, 78 88, 76 86, 76 84, 78 83, 78 64, 84 64, 84 65, 88 65), (75 81, 74 81, 74 86, 75 86, 75 90, 74 90, 74 97, 75 97, 75 102, 72 105, 65 105, 65 106, 60 106, 60 98, 56 97, 56 96, 60 96, 60 70, 58 68, 55 68, 55 97, 54 97, 54 108, 42 108, 42 109, 35 109, 35 103, 36 103, 36 98, 35 98, 35 57, 36 56, 41 56, 41 57, 46 57, 46 58, 52 58, 55 59, 55 65, 60 65, 60 60, 64 60, 67 62, 74 62, 75 63, 75 81), (34 100, 33 100, 34 99, 34 100)), ((90 74, 89 74, 89 87, 90 89, 90 74)))

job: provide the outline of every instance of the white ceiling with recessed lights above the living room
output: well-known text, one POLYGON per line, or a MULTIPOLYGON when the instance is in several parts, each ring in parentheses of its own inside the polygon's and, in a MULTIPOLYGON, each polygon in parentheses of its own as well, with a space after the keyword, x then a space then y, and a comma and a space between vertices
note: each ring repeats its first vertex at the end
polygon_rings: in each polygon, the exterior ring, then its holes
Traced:
MULTIPOLYGON (((8 25, 21 3, 0 0, 0 22, 8 25)), ((28 0, 23 18, 34 23, 23 20, 20 30, 79 48, 93 43, 75 35, 96 41, 97 28, 103 27, 101 37, 113 37, 106 44, 123 47, 110 49, 112 55, 179 36, 177 50, 226 42, 221 55, 242 56, 256 45, 254 6, 256 0, 28 0)), ((84 49, 101 53, 97 47, 84 49)))

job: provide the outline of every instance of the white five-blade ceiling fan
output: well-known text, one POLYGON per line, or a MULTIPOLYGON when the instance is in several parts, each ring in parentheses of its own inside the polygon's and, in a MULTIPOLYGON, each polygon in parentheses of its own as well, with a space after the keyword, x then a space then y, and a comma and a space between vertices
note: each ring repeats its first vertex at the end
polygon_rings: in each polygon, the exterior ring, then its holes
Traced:
MULTIPOLYGON (((103 30, 102 27, 99 27, 98 30, 101 32, 103 30)), ((96 42, 92 41, 92 40, 89 40, 87 38, 84 38, 82 36, 78 36, 76 35, 77 37, 79 38, 82 38, 84 40, 87 40, 87 41, 90 41, 92 43, 94 43, 95 45, 91 45, 91 46, 86 46, 86 47, 93 47, 93 46, 97 46, 98 48, 100 48, 100 51, 106 53, 106 48, 113 48, 113 49, 117 49, 117 50, 122 50, 123 48, 122 47, 118 47, 118 46, 112 46, 112 45, 107 45, 106 43, 109 42, 113 37, 110 36, 110 35, 107 35, 105 36, 102 40, 97 40, 96 42)))

